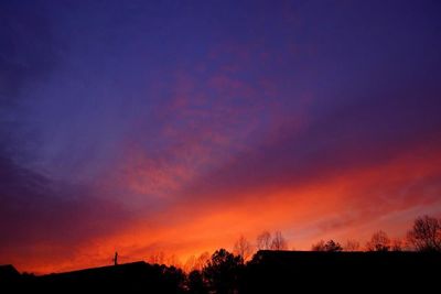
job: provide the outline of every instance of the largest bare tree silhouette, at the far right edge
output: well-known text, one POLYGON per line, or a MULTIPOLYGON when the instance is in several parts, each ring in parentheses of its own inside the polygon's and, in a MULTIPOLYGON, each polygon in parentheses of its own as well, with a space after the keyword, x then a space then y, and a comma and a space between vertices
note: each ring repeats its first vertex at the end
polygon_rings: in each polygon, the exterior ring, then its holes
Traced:
POLYGON ((433 217, 418 217, 407 239, 418 251, 441 251, 441 220, 433 217))

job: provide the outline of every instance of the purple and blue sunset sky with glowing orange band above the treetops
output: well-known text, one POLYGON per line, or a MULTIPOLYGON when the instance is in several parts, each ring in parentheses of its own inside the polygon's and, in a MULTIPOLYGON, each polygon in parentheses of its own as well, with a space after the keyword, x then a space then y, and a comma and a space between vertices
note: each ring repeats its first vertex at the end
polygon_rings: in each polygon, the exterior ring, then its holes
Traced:
POLYGON ((0 263, 441 216, 439 1, 0 3, 0 263))

